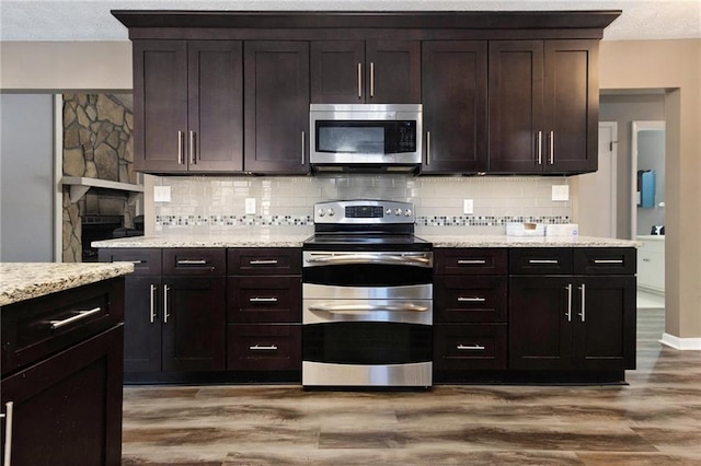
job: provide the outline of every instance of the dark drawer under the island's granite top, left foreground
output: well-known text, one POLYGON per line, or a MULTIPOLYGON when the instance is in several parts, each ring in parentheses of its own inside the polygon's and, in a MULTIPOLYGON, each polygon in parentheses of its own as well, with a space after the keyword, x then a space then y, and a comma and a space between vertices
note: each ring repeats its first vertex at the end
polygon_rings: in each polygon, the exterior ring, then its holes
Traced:
POLYGON ((2 308, 2 374, 124 322, 124 277, 2 308))

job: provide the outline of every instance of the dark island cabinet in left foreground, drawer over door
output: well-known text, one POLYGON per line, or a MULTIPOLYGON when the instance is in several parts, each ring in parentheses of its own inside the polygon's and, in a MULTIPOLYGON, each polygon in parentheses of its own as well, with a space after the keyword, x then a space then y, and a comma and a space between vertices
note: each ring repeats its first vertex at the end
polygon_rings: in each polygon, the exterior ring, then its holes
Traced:
POLYGON ((118 465, 124 279, 2 307, 5 465, 118 465))

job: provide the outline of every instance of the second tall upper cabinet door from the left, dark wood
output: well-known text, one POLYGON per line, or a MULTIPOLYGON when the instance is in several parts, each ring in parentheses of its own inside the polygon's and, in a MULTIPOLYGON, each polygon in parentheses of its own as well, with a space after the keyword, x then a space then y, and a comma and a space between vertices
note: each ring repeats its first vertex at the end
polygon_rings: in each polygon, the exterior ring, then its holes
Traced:
POLYGON ((191 172, 243 170, 243 59, 237 40, 187 44, 191 172))

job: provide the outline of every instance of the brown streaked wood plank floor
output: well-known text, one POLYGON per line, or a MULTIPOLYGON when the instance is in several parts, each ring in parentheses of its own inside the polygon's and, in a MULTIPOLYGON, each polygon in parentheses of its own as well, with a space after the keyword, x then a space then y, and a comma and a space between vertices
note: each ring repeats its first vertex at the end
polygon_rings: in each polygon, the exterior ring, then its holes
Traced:
POLYGON ((701 353, 639 311, 625 386, 125 387, 124 465, 701 465, 701 353))

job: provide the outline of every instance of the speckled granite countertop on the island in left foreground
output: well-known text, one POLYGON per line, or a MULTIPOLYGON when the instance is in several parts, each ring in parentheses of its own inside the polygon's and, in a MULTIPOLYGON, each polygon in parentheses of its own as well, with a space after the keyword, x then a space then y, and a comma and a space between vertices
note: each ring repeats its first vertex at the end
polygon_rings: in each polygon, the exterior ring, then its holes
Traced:
POLYGON ((134 264, 0 264, 0 306, 39 298, 134 271, 134 264))

